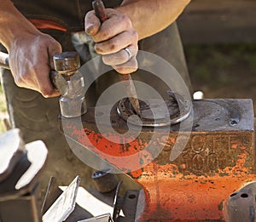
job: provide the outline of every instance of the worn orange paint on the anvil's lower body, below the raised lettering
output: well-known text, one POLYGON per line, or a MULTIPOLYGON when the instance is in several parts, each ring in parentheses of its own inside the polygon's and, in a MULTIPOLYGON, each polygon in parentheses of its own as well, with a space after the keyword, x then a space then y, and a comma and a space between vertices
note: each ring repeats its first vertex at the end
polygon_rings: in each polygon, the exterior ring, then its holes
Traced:
MULTIPOLYGON (((225 201, 242 186, 256 180, 253 162, 245 166, 250 155, 240 149, 234 167, 218 168, 214 175, 184 175, 174 164, 151 162, 136 179, 147 196, 147 206, 140 221, 224 221, 225 201)), ((184 168, 184 166, 182 166, 184 168)))

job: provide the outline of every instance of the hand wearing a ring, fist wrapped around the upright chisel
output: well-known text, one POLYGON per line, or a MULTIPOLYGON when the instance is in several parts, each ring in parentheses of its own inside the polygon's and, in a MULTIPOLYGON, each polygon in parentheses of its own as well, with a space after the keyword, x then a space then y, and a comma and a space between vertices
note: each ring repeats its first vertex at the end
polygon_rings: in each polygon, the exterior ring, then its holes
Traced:
POLYGON ((137 70, 137 31, 132 27, 131 20, 115 9, 105 9, 108 20, 101 24, 94 11, 86 14, 85 31, 95 41, 97 54, 102 54, 106 65, 111 65, 121 74, 137 70), (128 51, 125 50, 128 48, 128 51))

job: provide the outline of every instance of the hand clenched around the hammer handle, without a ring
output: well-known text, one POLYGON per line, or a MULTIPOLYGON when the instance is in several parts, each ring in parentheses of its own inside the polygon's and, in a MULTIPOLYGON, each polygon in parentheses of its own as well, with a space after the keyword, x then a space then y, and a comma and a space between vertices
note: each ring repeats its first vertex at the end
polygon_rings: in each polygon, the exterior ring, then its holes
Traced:
POLYGON ((26 33, 17 37, 9 47, 9 66, 15 83, 36 90, 44 97, 59 95, 49 79, 49 71, 54 69, 52 58, 59 53, 61 44, 39 31, 36 35, 26 33))

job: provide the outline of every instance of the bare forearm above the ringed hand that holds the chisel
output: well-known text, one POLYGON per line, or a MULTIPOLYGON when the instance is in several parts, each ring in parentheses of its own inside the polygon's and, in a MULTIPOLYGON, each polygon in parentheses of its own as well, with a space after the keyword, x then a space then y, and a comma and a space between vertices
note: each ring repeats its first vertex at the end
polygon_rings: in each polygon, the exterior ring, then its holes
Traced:
POLYGON ((162 31, 177 19, 190 0, 124 0, 117 8, 128 15, 139 39, 162 31))

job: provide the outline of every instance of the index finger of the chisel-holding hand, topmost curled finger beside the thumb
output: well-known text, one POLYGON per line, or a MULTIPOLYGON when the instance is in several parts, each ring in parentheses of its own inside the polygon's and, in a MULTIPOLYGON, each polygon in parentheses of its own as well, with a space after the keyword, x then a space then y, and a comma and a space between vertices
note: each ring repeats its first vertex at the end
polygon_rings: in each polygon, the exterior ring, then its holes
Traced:
POLYGON ((119 14, 116 10, 106 9, 108 20, 102 23, 100 30, 93 36, 96 43, 101 43, 119 33, 131 28, 131 20, 125 14, 119 14), (113 26, 113 24, 115 24, 113 26))

